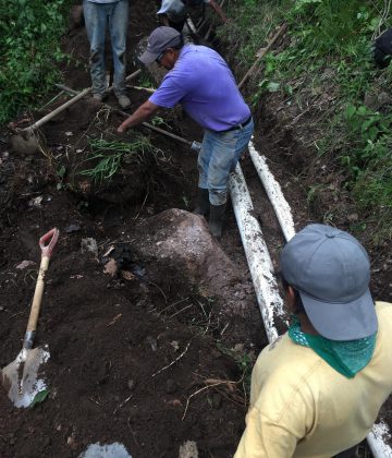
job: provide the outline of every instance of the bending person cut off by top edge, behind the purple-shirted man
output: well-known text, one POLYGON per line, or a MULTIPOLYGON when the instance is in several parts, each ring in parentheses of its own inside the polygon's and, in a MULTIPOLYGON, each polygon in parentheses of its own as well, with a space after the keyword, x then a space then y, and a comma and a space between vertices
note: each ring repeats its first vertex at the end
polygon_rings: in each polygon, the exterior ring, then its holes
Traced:
POLYGON ((203 3, 209 4, 223 23, 228 21, 223 10, 215 0, 163 0, 157 14, 162 24, 181 32, 184 28, 189 7, 197 7, 203 3))

